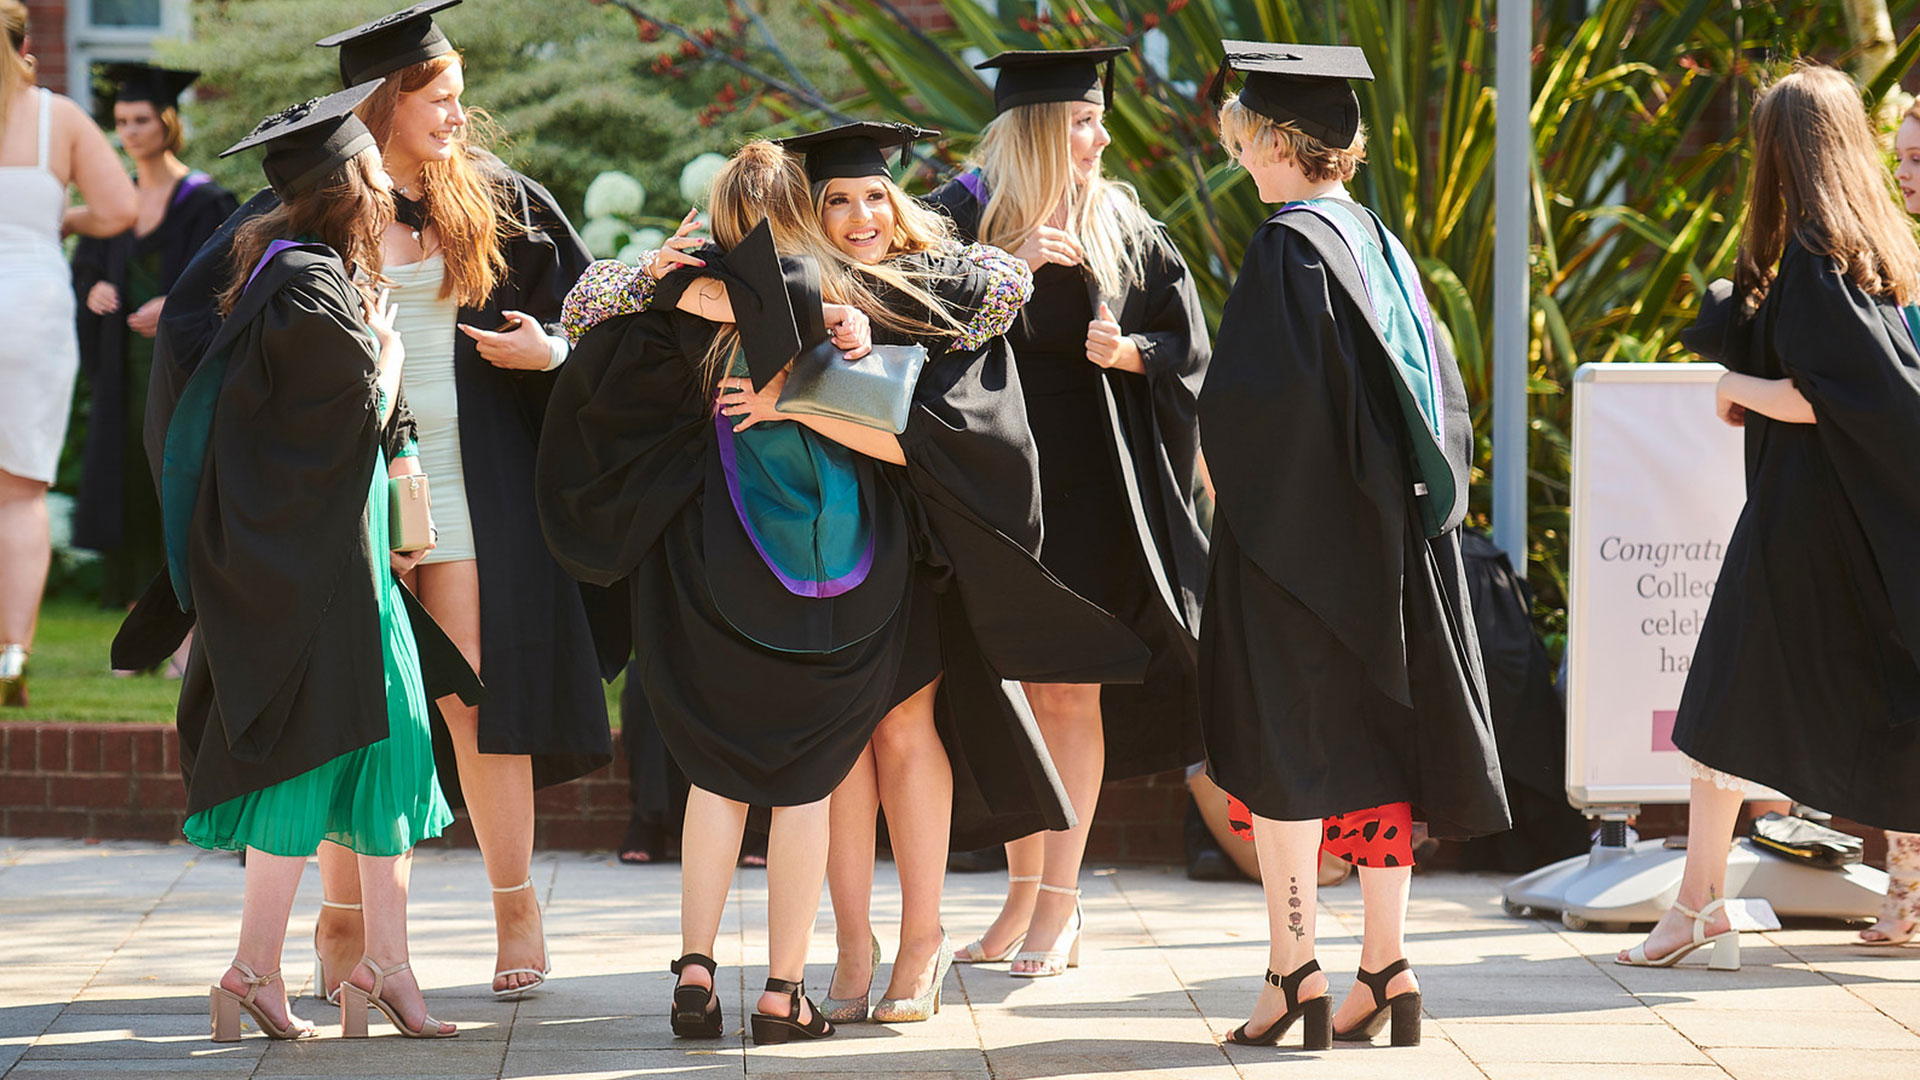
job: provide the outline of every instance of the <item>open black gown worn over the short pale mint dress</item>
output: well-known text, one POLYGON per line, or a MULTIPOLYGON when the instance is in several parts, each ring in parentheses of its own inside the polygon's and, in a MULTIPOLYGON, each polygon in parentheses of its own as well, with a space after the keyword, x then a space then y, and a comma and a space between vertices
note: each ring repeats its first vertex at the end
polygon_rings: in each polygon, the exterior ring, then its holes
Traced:
MULTIPOLYGON (((482 167, 499 183, 503 211, 530 229, 505 242, 507 275, 488 302, 461 307, 459 319, 493 329, 503 323, 501 311, 513 309, 559 332, 561 302, 589 261, 586 246, 543 186, 492 156, 482 158, 482 167)), ((276 204, 271 190, 255 194, 202 250, 182 275, 196 286, 198 304, 184 304, 186 284, 177 284, 169 296, 161 321, 184 354, 211 338, 219 325, 213 296, 225 281, 232 225, 276 204)), ((156 382, 159 367, 156 350, 156 382)), ((455 334, 453 371, 480 575, 480 671, 488 682, 480 751, 528 753, 536 788, 561 784, 612 759, 601 678, 612 678, 626 663, 622 603, 568 578, 540 536, 532 500, 534 448, 555 375, 493 367, 467 334, 455 334)), ((150 450, 154 438, 148 429, 150 450)), ((453 744, 432 701, 428 711, 442 788, 449 803, 461 805, 453 744)))

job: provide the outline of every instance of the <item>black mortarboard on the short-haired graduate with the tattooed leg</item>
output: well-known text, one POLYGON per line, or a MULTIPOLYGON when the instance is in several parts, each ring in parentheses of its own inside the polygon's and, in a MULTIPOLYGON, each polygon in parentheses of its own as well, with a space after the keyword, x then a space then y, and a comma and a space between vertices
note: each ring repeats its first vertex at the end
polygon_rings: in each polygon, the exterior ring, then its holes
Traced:
POLYGON ((1292 123, 1334 150, 1346 150, 1359 133, 1359 96, 1352 79, 1373 81, 1367 54, 1350 44, 1275 44, 1223 40, 1227 58, 1208 86, 1221 98, 1227 71, 1246 75, 1240 104, 1256 113, 1292 123))

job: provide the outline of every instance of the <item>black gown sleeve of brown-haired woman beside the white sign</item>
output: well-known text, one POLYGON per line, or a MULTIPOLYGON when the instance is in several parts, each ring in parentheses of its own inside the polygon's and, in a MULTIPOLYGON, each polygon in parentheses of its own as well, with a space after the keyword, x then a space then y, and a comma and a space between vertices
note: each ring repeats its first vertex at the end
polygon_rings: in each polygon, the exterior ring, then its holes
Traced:
MULTIPOLYGON (((1901 646, 1920 663, 1920 350, 1901 313, 1832 259, 1788 248, 1774 352, 1812 405, 1820 446, 1872 548, 1901 646)), ((1768 421, 1778 423, 1778 421, 1768 421)), ((1860 582, 1872 588, 1870 582, 1860 582)))

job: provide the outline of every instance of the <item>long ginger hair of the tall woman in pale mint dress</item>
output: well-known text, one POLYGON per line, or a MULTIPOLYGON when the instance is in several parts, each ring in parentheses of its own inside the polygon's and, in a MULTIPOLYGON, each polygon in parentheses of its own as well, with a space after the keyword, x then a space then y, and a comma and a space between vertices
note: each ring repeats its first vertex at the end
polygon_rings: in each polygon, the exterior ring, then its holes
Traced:
MULTIPOLYGON (((455 63, 461 63, 461 54, 444 52, 401 67, 361 102, 355 111, 380 146, 394 136, 394 110, 399 108, 399 96, 424 88, 455 63)), ((426 223, 440 233, 442 259, 447 267, 440 281, 440 298, 453 298, 463 307, 480 307, 507 277, 503 240, 524 233, 526 225, 503 206, 505 177, 490 177, 490 169, 484 171, 474 160, 472 138, 478 135, 484 140, 493 131, 492 117, 478 108, 465 111, 467 127, 453 133, 453 156, 422 163, 417 184, 426 223)))

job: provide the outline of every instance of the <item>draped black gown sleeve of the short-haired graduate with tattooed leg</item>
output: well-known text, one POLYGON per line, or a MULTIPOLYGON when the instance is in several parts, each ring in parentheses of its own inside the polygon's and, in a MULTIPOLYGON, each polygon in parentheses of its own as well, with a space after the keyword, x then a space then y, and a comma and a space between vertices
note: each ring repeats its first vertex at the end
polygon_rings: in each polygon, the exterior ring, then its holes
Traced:
POLYGON ((1263 225, 1221 313, 1200 438, 1217 513, 1248 557, 1411 707, 1402 592, 1417 525, 1402 421, 1392 390, 1369 392, 1361 334, 1367 315, 1313 242, 1263 225))

